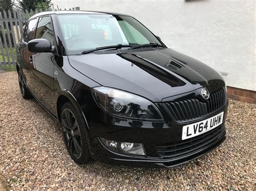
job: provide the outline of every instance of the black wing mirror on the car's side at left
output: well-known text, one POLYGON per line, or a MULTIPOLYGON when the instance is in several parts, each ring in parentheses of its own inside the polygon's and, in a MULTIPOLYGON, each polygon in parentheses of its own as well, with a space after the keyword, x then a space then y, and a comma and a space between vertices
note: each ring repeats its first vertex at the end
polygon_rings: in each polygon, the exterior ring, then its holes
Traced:
POLYGON ((28 43, 28 50, 30 52, 53 52, 52 46, 49 40, 46 39, 33 39, 28 43))

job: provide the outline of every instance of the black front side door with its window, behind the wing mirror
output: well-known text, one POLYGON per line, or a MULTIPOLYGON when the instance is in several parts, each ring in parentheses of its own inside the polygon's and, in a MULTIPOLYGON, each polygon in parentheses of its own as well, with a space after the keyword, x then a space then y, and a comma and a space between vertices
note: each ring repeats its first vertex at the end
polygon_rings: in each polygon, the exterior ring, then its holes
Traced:
MULTIPOLYGON (((39 17, 36 27, 35 39, 47 39, 52 46, 54 33, 50 16, 39 17)), ((37 99, 52 113, 55 111, 53 103, 53 69, 55 66, 55 55, 44 52, 32 56, 33 66, 31 68, 31 91, 37 99)))

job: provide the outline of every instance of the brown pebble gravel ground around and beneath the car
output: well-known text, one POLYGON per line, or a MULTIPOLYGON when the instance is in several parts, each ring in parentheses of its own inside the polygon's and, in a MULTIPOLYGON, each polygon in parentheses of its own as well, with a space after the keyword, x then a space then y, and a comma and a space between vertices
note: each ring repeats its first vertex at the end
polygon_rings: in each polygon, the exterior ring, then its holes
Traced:
MULTIPOLYGON (((255 189, 255 104, 230 100, 227 140, 217 150, 170 169, 86 166, 69 157, 60 126, 23 100, 16 72, 0 74, 0 177, 11 189, 255 189)), ((1 182, 1 180, 0 180, 1 182)), ((1 186, 0 186, 1 188, 1 186)))

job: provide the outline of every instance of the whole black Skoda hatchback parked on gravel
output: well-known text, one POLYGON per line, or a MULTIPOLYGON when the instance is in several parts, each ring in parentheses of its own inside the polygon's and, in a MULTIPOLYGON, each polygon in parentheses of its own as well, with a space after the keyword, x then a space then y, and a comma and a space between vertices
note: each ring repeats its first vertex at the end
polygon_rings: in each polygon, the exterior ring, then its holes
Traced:
POLYGON ((221 75, 131 16, 38 13, 18 43, 17 72, 23 98, 60 122, 78 164, 172 167, 226 138, 221 75))

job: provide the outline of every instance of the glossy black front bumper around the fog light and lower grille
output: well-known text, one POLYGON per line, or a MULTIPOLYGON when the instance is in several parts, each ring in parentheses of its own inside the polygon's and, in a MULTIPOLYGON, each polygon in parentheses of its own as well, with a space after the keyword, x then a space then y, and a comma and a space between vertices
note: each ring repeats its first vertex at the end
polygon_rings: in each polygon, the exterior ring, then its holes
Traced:
MULTIPOLYGON (((97 116, 89 121, 90 148, 92 158, 114 165, 129 165, 133 167, 173 167, 194 160, 218 147, 226 139, 225 118, 227 104, 224 108, 213 112, 205 118, 189 122, 175 122, 165 115, 165 122, 138 122, 121 119, 105 114, 101 110, 95 111, 97 116), (212 142, 201 146, 197 150, 187 152, 178 157, 163 157, 158 153, 157 146, 181 141, 182 127, 186 124, 196 123, 224 111, 224 122, 219 127, 218 136, 212 142), (103 118, 100 118, 102 116, 103 118), (104 123, 102 120, 104 119, 104 123), (107 148, 99 137, 120 142, 143 143, 146 156, 126 155, 115 153, 107 148)), ((95 113, 95 114, 96 114, 95 113)), ((216 128, 216 129, 217 129, 216 128)), ((214 130, 214 129, 213 129, 214 130)), ((209 131, 211 132, 211 131, 209 131)))

